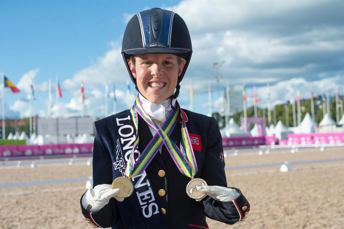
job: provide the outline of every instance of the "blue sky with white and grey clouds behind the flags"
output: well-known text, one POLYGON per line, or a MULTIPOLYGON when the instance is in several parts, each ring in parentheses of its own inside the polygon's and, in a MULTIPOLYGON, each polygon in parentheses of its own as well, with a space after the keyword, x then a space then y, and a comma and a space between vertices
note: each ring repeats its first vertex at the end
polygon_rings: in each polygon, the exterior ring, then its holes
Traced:
MULTIPOLYGON (((267 106, 267 83, 273 105, 291 94, 310 98, 324 87, 344 95, 344 1, 341 0, 168 0, 161 1, 4 1, 0 0, 0 74, 21 92, 4 89, 6 118, 30 115, 30 79, 35 100, 33 115, 49 117, 48 81, 53 84, 52 117, 80 116, 84 81, 85 116, 105 117, 127 109, 129 74, 121 56, 126 23, 137 12, 159 7, 186 22, 193 54, 181 83, 178 101, 208 114, 208 82, 213 86, 213 112, 223 109, 223 86, 240 90, 246 84, 248 107, 257 87, 258 106, 267 106), (213 63, 222 62, 219 69, 213 63), (218 70, 218 72, 217 72, 218 70), (217 74, 221 80, 216 81, 217 74), (62 96, 56 103, 58 75, 62 96), (58 109, 57 109, 58 108, 58 109), (57 112, 58 110, 58 112, 57 112)), ((137 91, 130 85, 129 103, 137 91)), ((2 85, 0 87, 2 93, 2 85)), ((2 108, 1 108, 2 109, 2 108)))

